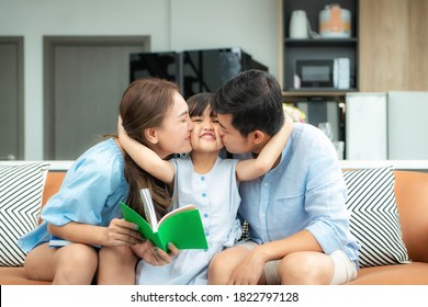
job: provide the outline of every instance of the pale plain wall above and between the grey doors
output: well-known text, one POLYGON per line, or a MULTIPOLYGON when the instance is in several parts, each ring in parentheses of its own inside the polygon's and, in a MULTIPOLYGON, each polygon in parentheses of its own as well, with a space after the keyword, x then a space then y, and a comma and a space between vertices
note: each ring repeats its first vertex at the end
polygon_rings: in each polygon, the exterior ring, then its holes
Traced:
POLYGON ((150 35, 151 50, 240 46, 279 78, 279 0, 0 0, 24 36, 25 159, 43 159, 43 36, 150 35))

